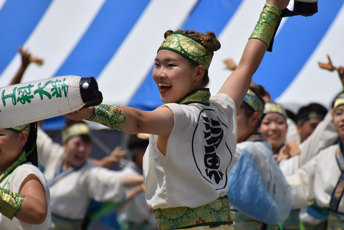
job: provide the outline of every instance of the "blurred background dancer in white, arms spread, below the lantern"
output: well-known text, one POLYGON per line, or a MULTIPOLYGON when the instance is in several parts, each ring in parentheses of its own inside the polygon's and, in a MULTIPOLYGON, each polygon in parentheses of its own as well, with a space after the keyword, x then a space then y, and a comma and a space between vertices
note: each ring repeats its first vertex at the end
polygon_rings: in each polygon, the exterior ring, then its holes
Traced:
POLYGON ((38 130, 38 157, 51 194, 52 230, 80 230, 91 199, 120 202, 125 186, 143 182, 142 176, 98 167, 88 159, 91 143, 85 122, 64 128, 62 142, 54 143, 38 130))

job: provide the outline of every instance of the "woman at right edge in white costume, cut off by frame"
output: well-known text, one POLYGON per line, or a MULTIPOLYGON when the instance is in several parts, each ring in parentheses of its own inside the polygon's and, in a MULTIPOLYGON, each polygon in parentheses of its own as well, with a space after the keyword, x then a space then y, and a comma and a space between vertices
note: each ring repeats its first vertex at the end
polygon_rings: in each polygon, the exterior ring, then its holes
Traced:
POLYGON ((333 105, 333 127, 339 136, 339 144, 321 150, 295 174, 287 176, 288 183, 297 188, 293 201, 295 207, 316 202, 329 209, 328 230, 344 229, 344 93, 336 97, 333 105))

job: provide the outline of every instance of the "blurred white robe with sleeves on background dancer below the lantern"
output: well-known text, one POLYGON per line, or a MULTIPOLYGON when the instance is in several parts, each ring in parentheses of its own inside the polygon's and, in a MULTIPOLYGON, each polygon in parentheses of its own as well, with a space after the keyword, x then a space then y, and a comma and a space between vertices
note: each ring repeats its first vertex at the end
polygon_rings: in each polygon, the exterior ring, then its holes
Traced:
MULTIPOLYGON (((51 181, 61 161, 64 149, 38 129, 38 159, 45 168, 44 175, 51 181)), ((90 160, 79 170, 67 174, 50 186, 52 213, 63 218, 82 220, 91 199, 120 201, 124 196, 124 173, 95 166, 90 160)))

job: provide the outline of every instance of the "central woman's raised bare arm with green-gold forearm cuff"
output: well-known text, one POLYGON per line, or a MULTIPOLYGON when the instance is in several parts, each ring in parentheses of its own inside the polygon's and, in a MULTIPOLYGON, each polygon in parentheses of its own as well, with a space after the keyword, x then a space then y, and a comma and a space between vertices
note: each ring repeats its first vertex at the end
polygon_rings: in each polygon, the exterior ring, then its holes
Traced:
POLYGON ((280 20, 281 9, 287 7, 289 0, 266 0, 266 3, 274 5, 265 4, 237 68, 219 90, 219 93, 226 93, 234 100, 236 108, 240 107, 245 98, 252 76, 258 69, 280 20))

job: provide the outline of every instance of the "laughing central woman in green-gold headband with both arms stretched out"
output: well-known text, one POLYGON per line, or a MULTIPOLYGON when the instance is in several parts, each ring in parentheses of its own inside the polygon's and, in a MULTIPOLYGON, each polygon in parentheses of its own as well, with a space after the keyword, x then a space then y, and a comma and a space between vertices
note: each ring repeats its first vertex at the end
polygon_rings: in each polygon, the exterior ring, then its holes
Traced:
POLYGON ((99 105, 67 115, 130 134, 151 134, 143 174, 146 200, 161 230, 231 229, 226 193, 237 140, 236 108, 288 2, 266 1, 238 67, 216 95, 203 88, 213 52, 220 48, 215 34, 167 31, 152 76, 165 105, 151 112, 99 105))

